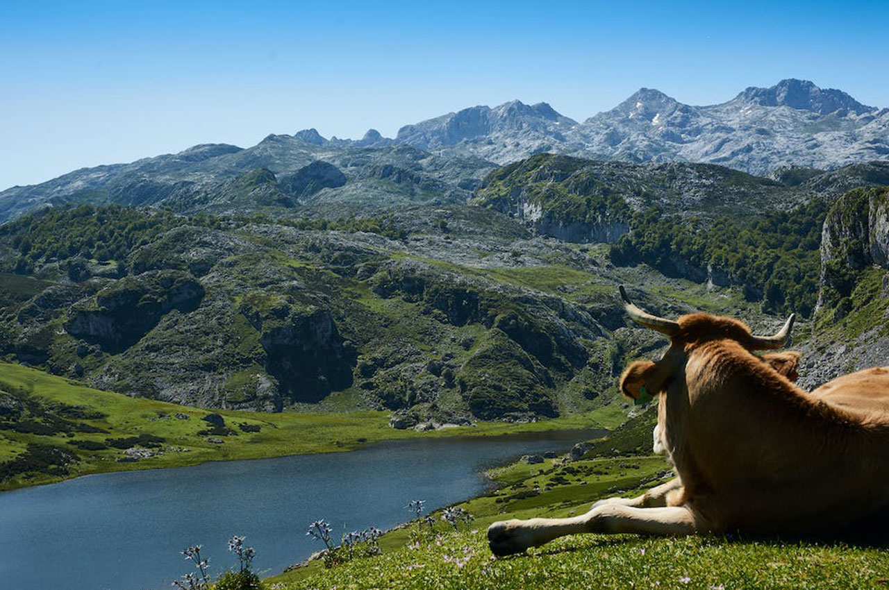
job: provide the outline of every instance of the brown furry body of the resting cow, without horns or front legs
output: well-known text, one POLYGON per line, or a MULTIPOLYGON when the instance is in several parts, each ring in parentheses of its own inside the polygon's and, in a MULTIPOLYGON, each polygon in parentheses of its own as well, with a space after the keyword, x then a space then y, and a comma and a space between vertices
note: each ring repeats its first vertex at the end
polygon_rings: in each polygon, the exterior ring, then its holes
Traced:
POLYGON ((885 480, 889 458, 871 459, 885 457, 878 449, 889 444, 889 429, 874 428, 889 416, 889 371, 861 371, 810 395, 782 374, 794 377, 798 355, 757 357, 740 322, 688 317, 665 355, 684 357, 685 379, 672 381, 659 425, 685 485, 682 501, 709 529, 830 530, 889 506, 889 485, 873 477, 885 480), (850 488, 862 479, 870 502, 854 502, 850 488))

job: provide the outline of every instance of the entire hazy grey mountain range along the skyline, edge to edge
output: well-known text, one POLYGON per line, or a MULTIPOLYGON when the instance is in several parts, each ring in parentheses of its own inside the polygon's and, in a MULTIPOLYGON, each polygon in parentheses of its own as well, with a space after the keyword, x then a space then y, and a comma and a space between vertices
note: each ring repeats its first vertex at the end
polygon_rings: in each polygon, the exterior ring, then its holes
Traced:
MULTIPOLYGON (((0 192, 0 222, 44 204, 117 203, 175 211, 465 203, 500 164, 538 153, 629 163, 717 163, 765 175, 889 160, 889 108, 795 79, 694 107, 641 89, 582 123, 546 103, 464 108, 361 140, 315 129, 252 148, 206 144, 84 168, 0 192)), ((812 173, 815 173, 814 171, 812 173)))

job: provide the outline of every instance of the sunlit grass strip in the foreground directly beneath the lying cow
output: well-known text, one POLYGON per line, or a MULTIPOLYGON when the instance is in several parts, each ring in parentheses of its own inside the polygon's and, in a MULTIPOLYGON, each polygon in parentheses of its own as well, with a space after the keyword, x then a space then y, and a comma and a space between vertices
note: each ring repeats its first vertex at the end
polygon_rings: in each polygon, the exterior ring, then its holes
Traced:
POLYGON ((885 588, 889 562, 875 548, 784 544, 743 538, 589 535, 528 554, 491 558, 484 528, 447 534, 441 545, 401 548, 309 578, 269 586, 316 588, 885 588), (448 558, 469 557, 463 567, 448 558))

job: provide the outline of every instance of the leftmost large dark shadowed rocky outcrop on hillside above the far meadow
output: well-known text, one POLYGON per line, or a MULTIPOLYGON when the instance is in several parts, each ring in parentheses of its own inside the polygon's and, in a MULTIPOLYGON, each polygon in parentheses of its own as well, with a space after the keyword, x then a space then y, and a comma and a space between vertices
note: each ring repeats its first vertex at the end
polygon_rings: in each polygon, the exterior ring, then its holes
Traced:
POLYGON ((129 276, 73 307, 65 331, 116 354, 138 342, 164 314, 188 313, 204 298, 194 277, 175 270, 129 276))

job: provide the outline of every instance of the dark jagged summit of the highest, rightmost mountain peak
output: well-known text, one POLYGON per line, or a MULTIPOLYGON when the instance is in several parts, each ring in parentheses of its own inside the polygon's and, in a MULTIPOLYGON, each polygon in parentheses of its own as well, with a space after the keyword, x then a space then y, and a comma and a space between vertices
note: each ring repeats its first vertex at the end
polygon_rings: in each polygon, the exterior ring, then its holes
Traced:
POLYGON ((788 78, 770 88, 750 86, 735 100, 749 102, 763 107, 789 107, 812 111, 819 115, 829 115, 837 110, 845 110, 861 115, 874 110, 862 105, 858 100, 843 91, 833 88, 821 89, 808 80, 788 78))

